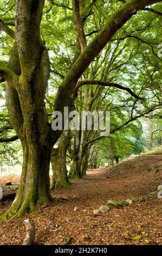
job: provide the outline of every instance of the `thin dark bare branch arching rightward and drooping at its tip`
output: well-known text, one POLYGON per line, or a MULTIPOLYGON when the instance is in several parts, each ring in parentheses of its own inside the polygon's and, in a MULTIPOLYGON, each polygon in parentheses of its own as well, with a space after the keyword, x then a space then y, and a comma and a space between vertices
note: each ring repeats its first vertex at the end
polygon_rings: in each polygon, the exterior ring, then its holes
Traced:
POLYGON ((74 88, 74 92, 72 95, 72 99, 76 99, 77 96, 77 90, 83 86, 84 84, 99 84, 100 86, 108 86, 108 87, 115 87, 115 88, 119 88, 121 90, 125 90, 126 92, 128 92, 129 94, 131 94, 133 97, 135 97, 135 99, 138 100, 144 100, 144 98, 138 96, 137 94, 133 93, 131 89, 126 88, 124 86, 121 86, 120 84, 117 83, 107 83, 107 82, 102 82, 102 81, 82 81, 76 84, 76 87, 74 88))

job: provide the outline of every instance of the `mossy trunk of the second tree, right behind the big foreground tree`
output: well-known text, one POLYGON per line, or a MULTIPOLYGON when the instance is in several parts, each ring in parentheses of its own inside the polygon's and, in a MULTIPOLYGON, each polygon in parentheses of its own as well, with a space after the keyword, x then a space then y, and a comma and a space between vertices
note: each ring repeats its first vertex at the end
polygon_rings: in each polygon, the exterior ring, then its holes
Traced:
POLYGON ((53 168, 53 182, 50 190, 61 187, 68 188, 69 180, 66 167, 66 154, 70 143, 70 131, 63 131, 60 137, 59 147, 53 149, 51 154, 51 165, 53 168))

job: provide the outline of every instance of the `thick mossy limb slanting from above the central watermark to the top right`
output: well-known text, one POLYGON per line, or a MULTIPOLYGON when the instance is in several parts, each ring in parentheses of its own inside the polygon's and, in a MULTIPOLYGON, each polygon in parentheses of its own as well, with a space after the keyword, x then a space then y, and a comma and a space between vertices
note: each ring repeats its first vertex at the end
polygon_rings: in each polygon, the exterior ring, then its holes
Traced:
POLYGON ((76 62, 73 64, 72 68, 64 77, 62 81, 60 90, 58 90, 55 99, 55 109, 63 111, 63 102, 67 105, 70 104, 70 98, 73 90, 76 86, 77 80, 83 74, 83 72, 88 68, 89 64, 93 59, 98 56, 101 50, 106 46, 107 42, 111 40, 114 34, 119 31, 119 29, 129 20, 131 17, 137 13, 137 11, 142 10, 147 5, 162 2, 162 0, 132 0, 128 1, 122 5, 115 13, 109 17, 105 26, 101 31, 95 36, 95 38, 90 42, 85 50, 77 58, 76 62), (62 100, 60 101, 60 97, 62 100))

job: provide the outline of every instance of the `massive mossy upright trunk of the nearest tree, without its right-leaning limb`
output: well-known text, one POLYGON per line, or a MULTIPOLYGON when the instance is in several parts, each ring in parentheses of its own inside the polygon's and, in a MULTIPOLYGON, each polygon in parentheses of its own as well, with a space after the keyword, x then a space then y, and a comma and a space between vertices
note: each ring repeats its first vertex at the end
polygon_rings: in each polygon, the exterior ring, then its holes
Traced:
POLYGON ((44 109, 44 47, 40 39, 43 4, 43 0, 35 4, 32 0, 17 1, 16 44, 2 74, 10 121, 23 148, 20 187, 2 220, 21 217, 27 210, 34 212, 36 203, 51 200, 49 164, 54 141, 44 109))

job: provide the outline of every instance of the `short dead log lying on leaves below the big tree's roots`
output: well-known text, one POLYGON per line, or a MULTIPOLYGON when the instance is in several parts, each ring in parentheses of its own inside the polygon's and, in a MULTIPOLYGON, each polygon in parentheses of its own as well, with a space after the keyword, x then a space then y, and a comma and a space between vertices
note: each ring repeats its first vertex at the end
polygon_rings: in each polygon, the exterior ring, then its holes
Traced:
POLYGON ((26 236, 25 239, 23 241, 22 245, 32 245, 32 243, 34 242, 35 239, 35 225, 34 222, 29 220, 24 220, 23 224, 25 225, 25 229, 26 229, 26 236))

